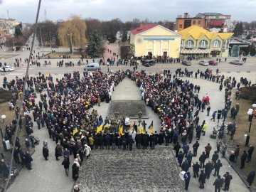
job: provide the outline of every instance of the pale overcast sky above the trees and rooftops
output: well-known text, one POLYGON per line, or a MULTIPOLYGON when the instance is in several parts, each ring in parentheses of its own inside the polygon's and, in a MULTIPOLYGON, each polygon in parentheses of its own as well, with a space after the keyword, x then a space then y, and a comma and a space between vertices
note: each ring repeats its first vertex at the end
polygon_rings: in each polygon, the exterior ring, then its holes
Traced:
MULTIPOLYGON (((0 18, 15 18, 17 21, 34 23, 38 0, 0 0, 0 18)), ((52 21, 65 20, 72 14, 82 18, 98 18, 101 21, 132 18, 150 21, 175 21, 178 14, 199 12, 230 14, 232 20, 256 19, 256 0, 42 0, 39 21, 46 17, 52 21)))

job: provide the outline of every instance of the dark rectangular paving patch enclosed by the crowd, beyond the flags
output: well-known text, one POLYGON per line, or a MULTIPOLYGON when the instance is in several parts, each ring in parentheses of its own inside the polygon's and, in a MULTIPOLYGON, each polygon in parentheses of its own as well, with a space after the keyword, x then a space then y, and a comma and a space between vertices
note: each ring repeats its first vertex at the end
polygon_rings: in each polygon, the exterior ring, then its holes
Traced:
POLYGON ((142 112, 142 118, 148 118, 146 113, 146 106, 143 101, 112 100, 110 102, 110 107, 107 112, 107 117, 114 117, 114 112, 116 111, 119 112, 119 118, 128 115, 128 117, 131 119, 137 119, 139 111, 142 112))

